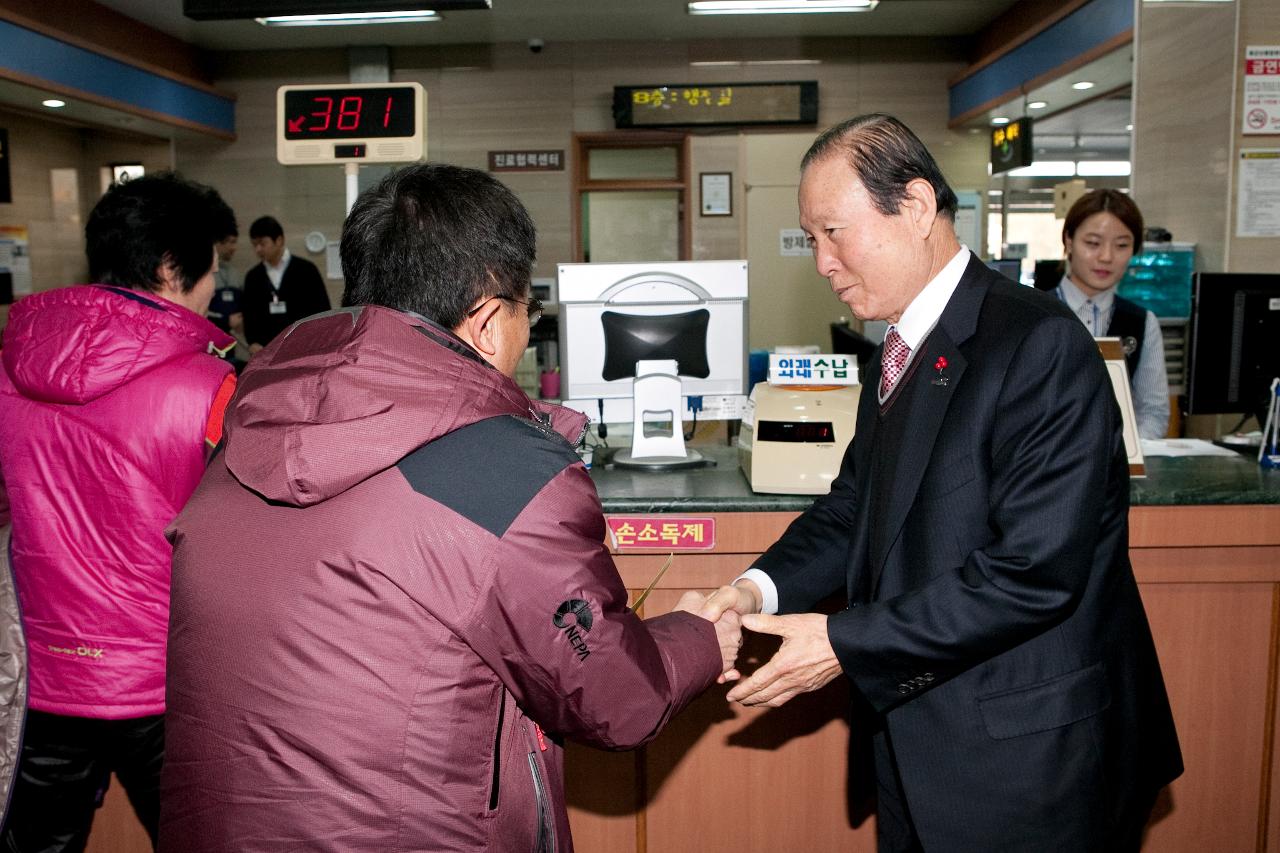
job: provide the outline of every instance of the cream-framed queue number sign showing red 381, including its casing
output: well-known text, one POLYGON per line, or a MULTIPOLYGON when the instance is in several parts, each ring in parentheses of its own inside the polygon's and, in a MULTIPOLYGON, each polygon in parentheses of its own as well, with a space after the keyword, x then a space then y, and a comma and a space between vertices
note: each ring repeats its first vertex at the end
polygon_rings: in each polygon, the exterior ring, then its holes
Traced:
POLYGON ((421 160, 425 108, 421 83, 282 86, 275 158, 284 165, 421 160))

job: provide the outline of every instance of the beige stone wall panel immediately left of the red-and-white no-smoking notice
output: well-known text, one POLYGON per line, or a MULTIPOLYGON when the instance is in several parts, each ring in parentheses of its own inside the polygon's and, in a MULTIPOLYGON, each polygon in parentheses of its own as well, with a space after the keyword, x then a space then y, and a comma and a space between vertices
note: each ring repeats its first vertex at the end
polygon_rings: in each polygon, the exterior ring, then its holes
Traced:
POLYGON ((1138 4, 1129 186, 1206 270, 1225 263, 1235 5, 1138 4))

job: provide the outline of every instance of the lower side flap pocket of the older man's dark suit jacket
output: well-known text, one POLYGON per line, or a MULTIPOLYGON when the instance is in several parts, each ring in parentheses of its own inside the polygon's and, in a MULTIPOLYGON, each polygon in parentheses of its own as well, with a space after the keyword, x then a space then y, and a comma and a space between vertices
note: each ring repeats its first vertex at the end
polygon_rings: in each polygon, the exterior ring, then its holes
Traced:
POLYGON ((1046 681, 978 697, 987 734, 997 740, 1059 729, 1101 713, 1111 704, 1100 661, 1046 681))

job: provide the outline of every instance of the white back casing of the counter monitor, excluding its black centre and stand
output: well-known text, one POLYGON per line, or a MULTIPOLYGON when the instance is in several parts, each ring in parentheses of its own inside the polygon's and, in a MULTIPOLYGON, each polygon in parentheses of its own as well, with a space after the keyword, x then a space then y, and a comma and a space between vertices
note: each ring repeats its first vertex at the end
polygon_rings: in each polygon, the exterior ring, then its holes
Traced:
MULTIPOLYGON (((631 420, 631 378, 605 380, 605 311, 655 315, 707 309, 705 379, 681 377, 681 394, 741 397, 748 379, 746 261, 561 264, 557 269, 561 327, 561 393, 564 403, 604 420, 631 420), (625 414, 622 411, 625 409, 625 414)), ((737 416, 737 409, 731 416, 737 416)), ((714 418, 714 410, 700 418, 714 418)))

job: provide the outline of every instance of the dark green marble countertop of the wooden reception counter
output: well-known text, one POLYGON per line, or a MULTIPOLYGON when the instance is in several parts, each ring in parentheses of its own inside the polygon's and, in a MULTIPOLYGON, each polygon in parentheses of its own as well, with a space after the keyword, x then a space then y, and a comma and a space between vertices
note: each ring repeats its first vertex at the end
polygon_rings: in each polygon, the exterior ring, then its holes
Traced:
MULTIPOLYGON (((591 479, 609 514, 800 512, 812 494, 755 494, 737 466, 737 448, 698 447, 712 467, 654 473, 596 464, 591 479)), ((1249 457, 1155 456, 1147 476, 1129 484, 1134 506, 1280 503, 1280 471, 1263 470, 1249 457)))

